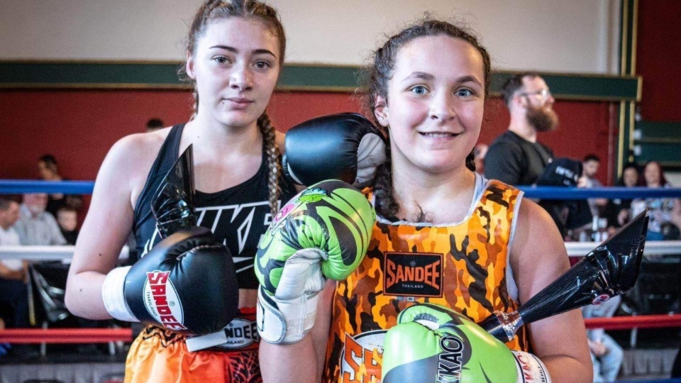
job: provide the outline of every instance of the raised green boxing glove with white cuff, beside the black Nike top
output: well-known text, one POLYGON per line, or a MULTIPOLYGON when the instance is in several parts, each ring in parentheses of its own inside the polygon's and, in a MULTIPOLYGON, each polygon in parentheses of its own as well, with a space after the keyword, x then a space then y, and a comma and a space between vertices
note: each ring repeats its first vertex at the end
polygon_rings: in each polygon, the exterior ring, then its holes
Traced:
POLYGON ((355 271, 375 220, 366 197, 335 179, 301 191, 279 211, 255 255, 262 339, 295 343, 310 331, 326 279, 355 271))

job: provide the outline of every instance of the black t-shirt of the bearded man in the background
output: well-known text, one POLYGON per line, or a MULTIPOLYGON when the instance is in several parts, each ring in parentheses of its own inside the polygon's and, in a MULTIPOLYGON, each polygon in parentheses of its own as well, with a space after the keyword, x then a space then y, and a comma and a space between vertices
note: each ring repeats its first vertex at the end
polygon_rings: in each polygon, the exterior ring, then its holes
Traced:
POLYGON ((531 143, 506 131, 489 145, 485 155, 485 178, 499 179, 509 185, 536 183, 553 160, 553 151, 541 143, 531 143))

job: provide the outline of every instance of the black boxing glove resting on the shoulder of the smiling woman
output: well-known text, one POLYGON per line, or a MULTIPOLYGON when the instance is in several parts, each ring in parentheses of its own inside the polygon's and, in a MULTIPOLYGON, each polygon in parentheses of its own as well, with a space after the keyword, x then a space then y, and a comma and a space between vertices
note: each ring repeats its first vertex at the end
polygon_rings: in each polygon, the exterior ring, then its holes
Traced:
POLYGON ((306 186, 341 179, 365 187, 385 161, 385 146, 382 133, 360 114, 313 118, 286 133, 284 174, 306 186))

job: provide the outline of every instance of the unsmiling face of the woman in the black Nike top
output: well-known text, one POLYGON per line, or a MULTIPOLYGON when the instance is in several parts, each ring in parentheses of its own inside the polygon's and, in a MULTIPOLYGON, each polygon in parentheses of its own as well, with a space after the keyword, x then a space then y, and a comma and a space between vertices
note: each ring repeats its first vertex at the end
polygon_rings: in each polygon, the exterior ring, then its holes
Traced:
POLYGON ((254 126, 280 72, 279 40, 258 18, 218 18, 206 25, 187 75, 199 94, 197 119, 254 126))

